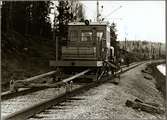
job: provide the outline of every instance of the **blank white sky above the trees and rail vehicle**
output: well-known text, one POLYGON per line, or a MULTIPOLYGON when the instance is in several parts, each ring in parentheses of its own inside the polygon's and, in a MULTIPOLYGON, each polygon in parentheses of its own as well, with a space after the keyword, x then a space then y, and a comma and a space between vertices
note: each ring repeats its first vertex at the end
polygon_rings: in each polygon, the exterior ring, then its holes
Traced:
MULTIPOLYGON (((96 18, 96 1, 81 1, 86 18, 96 18)), ((166 42, 165 1, 100 1, 101 18, 116 23, 118 40, 166 42), (103 9, 101 8, 103 6, 103 9), (121 7, 120 7, 121 6, 121 7)))

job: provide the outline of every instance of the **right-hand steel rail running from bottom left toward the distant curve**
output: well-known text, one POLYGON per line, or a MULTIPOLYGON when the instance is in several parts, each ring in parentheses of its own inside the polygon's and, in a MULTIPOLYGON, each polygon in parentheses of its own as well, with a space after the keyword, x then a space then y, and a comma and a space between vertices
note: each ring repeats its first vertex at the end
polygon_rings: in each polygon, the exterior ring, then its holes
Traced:
MULTIPOLYGON (((138 64, 132 65, 132 66, 128 67, 126 70, 124 70, 124 71, 122 71, 120 73, 117 73, 117 74, 124 73, 124 72, 126 72, 126 71, 128 71, 130 69, 133 69, 134 67, 137 67, 137 66, 139 66, 139 65, 141 65, 143 63, 145 63, 145 62, 140 62, 138 64)), ((83 86, 81 86, 79 88, 71 90, 71 92, 61 94, 61 95, 57 96, 56 98, 52 98, 50 100, 46 100, 46 101, 40 102, 40 103, 38 103, 36 105, 30 106, 30 107, 22 109, 22 110, 20 110, 18 112, 12 113, 9 116, 4 117, 3 119, 4 120, 25 120, 25 119, 28 119, 31 116, 33 116, 33 115, 35 115, 37 113, 40 113, 40 112, 44 111, 45 109, 48 109, 49 107, 64 101, 65 98, 67 97, 67 95, 68 96, 76 95, 81 90, 90 89, 90 88, 92 88, 94 86, 103 84, 104 82, 107 82, 107 81, 108 80, 103 79, 103 80, 95 81, 93 83, 89 83, 88 85, 83 85, 83 86)))

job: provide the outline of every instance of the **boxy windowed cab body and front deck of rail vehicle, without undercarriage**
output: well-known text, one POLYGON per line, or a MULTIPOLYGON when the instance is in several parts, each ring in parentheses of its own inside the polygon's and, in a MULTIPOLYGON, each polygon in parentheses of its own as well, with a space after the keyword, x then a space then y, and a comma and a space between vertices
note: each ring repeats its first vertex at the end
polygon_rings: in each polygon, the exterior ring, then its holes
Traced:
POLYGON ((60 59, 50 61, 55 67, 100 67, 110 57, 110 28, 107 23, 72 22, 68 40, 61 45, 60 59))

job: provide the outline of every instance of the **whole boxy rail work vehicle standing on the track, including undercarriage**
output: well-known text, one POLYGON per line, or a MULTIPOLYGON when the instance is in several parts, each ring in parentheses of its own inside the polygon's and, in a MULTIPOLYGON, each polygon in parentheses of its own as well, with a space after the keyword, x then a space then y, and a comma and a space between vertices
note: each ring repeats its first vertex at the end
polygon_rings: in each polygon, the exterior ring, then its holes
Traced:
POLYGON ((56 77, 91 69, 90 78, 100 79, 117 68, 114 64, 114 48, 110 45, 110 27, 105 22, 72 22, 68 24, 66 44, 56 43, 56 60, 50 66, 56 67, 56 77), (60 51, 58 52, 58 48, 60 51), (61 74, 61 75, 60 75, 61 74))

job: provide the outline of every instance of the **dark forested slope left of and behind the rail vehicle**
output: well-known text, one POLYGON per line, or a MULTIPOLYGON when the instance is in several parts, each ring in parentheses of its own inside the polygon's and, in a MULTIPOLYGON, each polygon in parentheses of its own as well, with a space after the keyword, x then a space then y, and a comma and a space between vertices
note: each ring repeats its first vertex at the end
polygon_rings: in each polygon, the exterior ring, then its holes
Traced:
MULTIPOLYGON (((55 9, 53 6, 53 1, 2 1, 1 83, 4 89, 12 79, 25 79, 50 70, 49 60, 55 59, 56 46, 49 17, 53 14, 51 9, 55 9)), ((82 4, 77 0, 59 1, 56 10, 56 36, 65 34, 62 28, 68 22, 84 19, 82 4)))

